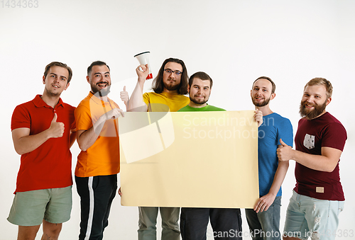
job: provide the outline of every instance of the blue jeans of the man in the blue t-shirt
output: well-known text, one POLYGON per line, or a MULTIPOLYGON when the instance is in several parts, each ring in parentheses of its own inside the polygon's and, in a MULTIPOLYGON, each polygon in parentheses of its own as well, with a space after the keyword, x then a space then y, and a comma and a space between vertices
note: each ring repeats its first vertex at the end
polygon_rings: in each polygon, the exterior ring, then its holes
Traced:
POLYGON ((256 213, 253 209, 246 209, 251 238, 253 240, 280 240, 280 208, 281 196, 276 197, 267 211, 256 213))

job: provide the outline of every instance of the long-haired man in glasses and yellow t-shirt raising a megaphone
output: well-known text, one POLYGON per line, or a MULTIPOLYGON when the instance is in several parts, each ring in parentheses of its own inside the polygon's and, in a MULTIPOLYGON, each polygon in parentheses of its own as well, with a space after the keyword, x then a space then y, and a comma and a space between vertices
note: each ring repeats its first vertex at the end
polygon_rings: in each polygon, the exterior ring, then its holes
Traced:
MULTIPOLYGON (((144 93, 142 96, 149 67, 146 64, 136 69, 138 81, 129 100, 129 111, 176 112, 189 104, 190 99, 184 96, 187 94, 188 76, 182 60, 165 59, 158 76, 153 80, 153 92, 144 93)), ((180 239, 179 207, 139 207, 138 240, 156 239, 158 209, 160 209, 163 226, 161 239, 180 239)))

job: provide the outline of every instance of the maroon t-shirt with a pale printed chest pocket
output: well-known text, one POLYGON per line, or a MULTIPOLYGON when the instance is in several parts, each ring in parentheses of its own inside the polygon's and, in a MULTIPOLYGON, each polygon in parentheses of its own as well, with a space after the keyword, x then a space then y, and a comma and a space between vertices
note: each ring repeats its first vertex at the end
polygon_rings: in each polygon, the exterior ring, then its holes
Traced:
MULTIPOLYGON (((330 113, 324 113, 313 120, 302 118, 298 122, 295 146, 300 152, 321 155, 322 147, 332 147, 343 151, 345 141, 344 126, 330 113)), ((313 170, 296 163, 295 192, 321 200, 345 200, 342 183, 340 183, 339 161, 331 173, 313 170)))

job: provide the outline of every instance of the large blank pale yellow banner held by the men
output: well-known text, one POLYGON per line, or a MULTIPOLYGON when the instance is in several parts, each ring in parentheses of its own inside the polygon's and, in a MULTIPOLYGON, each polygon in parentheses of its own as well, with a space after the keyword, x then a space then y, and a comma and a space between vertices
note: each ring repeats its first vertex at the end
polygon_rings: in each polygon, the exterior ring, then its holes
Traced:
POLYGON ((121 205, 246 207, 258 199, 254 111, 125 113, 121 205))

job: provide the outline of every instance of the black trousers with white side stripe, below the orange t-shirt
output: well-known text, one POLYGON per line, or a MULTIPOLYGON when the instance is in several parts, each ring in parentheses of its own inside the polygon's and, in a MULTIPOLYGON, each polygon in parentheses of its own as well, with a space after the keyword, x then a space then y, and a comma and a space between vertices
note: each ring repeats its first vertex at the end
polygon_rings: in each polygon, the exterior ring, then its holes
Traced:
POLYGON ((109 212, 117 190, 117 174, 80 178, 75 176, 80 195, 80 240, 102 240, 109 225, 109 212))

